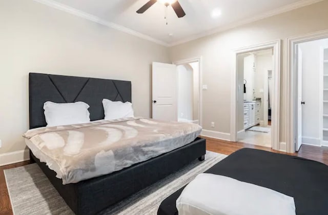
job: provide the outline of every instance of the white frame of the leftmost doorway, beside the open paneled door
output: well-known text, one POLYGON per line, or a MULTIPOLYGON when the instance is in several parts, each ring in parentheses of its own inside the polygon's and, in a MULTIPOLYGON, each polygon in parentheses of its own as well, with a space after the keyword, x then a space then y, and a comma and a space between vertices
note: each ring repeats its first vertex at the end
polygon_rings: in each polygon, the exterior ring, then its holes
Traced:
POLYGON ((183 59, 183 60, 178 60, 178 61, 174 61, 172 62, 172 64, 174 65, 183 65, 183 64, 189 64, 189 63, 194 63, 194 62, 198 62, 199 64, 199 108, 198 108, 198 115, 199 115, 199 125, 202 126, 202 56, 196 56, 196 57, 191 57, 191 58, 187 58, 187 59, 183 59))

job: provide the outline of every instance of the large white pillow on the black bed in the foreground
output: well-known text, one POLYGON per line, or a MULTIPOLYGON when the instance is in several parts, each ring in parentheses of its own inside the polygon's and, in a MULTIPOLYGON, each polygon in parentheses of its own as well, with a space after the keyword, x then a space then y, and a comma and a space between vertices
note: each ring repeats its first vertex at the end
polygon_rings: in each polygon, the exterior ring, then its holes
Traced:
POLYGON ((202 173, 176 201, 179 215, 295 215, 294 198, 216 174, 202 173))

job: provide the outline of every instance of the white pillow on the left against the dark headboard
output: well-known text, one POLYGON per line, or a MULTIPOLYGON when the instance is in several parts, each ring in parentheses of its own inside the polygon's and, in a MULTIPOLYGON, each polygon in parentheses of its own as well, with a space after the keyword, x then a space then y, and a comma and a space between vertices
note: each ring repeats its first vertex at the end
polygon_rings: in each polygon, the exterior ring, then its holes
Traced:
POLYGON ((73 125, 90 122, 90 106, 84 102, 54 103, 43 105, 47 126, 73 125))

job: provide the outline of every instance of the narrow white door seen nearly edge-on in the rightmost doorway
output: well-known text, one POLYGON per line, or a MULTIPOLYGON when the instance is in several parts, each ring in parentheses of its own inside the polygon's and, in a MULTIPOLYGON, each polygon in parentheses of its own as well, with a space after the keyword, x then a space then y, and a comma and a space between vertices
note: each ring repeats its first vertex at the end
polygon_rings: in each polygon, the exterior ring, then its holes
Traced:
POLYGON ((297 49, 297 59, 296 59, 296 71, 297 71, 297 140, 296 140, 296 148, 298 151, 302 145, 302 50, 299 46, 297 49))

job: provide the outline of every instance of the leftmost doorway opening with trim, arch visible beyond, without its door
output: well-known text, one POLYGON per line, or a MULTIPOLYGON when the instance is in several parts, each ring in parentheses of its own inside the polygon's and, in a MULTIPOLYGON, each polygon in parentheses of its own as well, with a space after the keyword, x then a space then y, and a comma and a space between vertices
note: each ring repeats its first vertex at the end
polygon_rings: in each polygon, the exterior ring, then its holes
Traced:
POLYGON ((174 62, 177 65, 178 121, 201 124, 200 60, 174 62))

